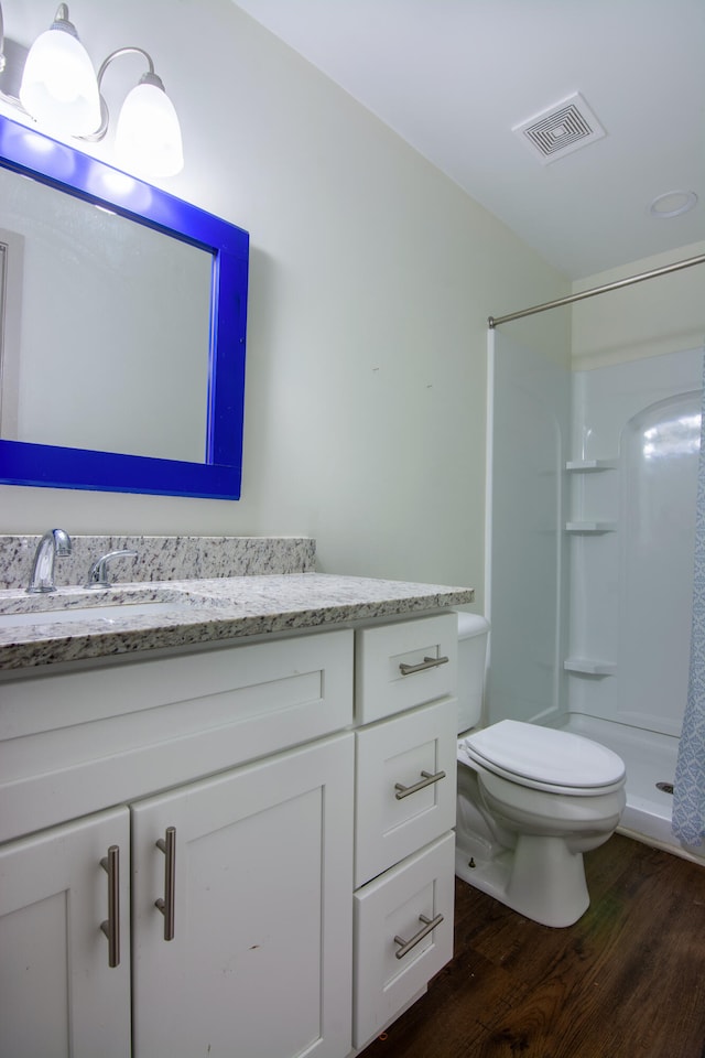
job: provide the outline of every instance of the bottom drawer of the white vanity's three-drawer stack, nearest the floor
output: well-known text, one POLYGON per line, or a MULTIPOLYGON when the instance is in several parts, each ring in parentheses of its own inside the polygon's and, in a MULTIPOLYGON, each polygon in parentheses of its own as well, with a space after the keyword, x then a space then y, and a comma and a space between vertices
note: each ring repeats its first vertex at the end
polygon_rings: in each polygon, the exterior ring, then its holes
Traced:
POLYGON ((355 894, 355 1047, 389 1025, 453 958, 454 871, 448 833, 355 894), (426 932, 434 919, 438 925, 426 932))

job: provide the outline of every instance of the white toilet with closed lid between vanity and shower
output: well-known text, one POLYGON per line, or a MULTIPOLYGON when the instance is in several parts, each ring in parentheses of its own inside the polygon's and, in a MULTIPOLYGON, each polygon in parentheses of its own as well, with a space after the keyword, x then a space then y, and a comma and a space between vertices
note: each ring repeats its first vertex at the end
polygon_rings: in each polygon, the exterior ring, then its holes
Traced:
POLYGON ((458 614, 455 873, 527 918, 571 926, 587 910, 583 853, 614 833, 625 765, 566 731, 502 720, 480 727, 489 624, 458 614))

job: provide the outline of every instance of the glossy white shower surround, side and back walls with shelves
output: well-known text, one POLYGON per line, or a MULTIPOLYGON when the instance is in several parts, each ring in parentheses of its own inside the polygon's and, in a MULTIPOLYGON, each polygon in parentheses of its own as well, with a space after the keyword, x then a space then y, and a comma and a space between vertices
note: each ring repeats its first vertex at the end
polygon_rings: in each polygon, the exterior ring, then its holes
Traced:
POLYGON ((687 695, 702 358, 571 378, 490 339, 487 720, 609 745, 621 829, 684 855, 655 784, 673 782, 687 695))

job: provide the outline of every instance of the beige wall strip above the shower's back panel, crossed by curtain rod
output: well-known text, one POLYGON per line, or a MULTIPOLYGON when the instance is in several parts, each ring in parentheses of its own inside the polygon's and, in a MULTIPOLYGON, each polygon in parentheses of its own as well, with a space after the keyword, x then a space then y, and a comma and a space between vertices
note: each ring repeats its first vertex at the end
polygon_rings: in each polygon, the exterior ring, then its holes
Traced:
MULTIPOLYGON (((669 224, 669 220, 654 222, 669 224)), ((601 287, 705 253, 692 242, 669 253, 589 276, 574 292, 601 287)), ((705 342, 705 263, 623 287, 573 306, 573 367, 589 370, 621 360, 693 349, 705 342)))

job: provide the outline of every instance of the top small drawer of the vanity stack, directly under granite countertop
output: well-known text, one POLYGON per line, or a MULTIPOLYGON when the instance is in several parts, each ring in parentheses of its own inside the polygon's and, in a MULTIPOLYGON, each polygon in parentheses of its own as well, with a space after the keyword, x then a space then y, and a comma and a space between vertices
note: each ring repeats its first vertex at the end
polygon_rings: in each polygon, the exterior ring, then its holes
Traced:
POLYGON ((356 633, 355 715, 369 724, 455 694, 457 614, 378 625, 356 633))

